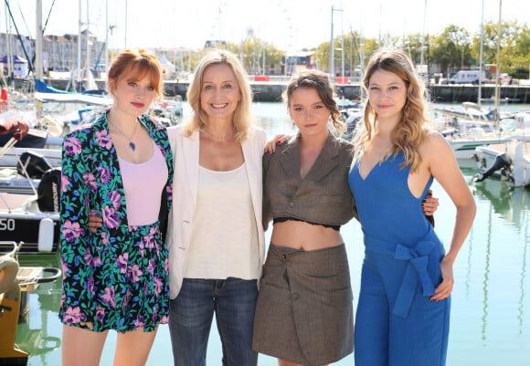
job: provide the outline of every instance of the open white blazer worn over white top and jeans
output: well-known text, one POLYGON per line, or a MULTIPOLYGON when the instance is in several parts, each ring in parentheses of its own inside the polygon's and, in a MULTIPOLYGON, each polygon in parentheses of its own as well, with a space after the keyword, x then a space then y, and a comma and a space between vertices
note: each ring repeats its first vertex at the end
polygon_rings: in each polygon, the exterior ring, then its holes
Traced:
MULTIPOLYGON (((185 136, 183 126, 167 129, 174 157, 173 204, 169 213, 166 243, 169 247, 170 298, 176 298, 185 274, 188 248, 194 225, 199 171, 199 132, 185 136)), ((267 141, 263 129, 252 128, 249 139, 242 143, 243 157, 249 174, 250 194, 260 250, 260 272, 265 260, 265 235, 261 225, 263 180, 261 158, 267 141)), ((229 230, 229 228, 227 228, 229 230)))

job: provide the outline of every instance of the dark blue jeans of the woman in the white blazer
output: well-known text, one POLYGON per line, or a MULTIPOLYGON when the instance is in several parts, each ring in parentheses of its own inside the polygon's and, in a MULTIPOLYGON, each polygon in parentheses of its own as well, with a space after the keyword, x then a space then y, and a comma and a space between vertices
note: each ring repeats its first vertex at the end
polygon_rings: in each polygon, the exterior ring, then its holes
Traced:
POLYGON ((169 332, 175 366, 205 366, 214 313, 223 348, 223 366, 256 366, 252 328, 257 281, 185 278, 170 300, 169 332))

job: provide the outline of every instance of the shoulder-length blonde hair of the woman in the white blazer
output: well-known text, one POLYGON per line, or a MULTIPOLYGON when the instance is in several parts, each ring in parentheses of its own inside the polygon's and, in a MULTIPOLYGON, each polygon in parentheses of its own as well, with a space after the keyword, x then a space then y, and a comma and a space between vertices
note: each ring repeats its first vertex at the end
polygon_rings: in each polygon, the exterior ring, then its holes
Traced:
POLYGON ((251 112, 252 89, 250 89, 249 76, 239 58, 233 53, 222 49, 209 51, 201 58, 196 67, 193 79, 186 92, 186 99, 193 110, 193 115, 190 120, 185 122, 185 133, 189 136, 194 131, 202 130, 207 124, 207 113, 201 107, 203 78, 208 67, 219 64, 228 65, 236 76, 241 99, 234 111, 232 125, 236 132, 236 141, 242 142, 247 140, 250 126, 255 123, 251 112))

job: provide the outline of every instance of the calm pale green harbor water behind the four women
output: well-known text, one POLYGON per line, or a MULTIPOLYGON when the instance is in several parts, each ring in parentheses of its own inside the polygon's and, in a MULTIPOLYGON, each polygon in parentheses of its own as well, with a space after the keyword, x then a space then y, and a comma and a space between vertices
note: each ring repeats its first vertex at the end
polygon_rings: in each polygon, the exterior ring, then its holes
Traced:
MULTIPOLYGON (((518 106, 521 108, 521 106, 518 106)), ((525 106, 528 108, 528 106, 525 106)), ((292 133, 293 126, 282 103, 254 103, 254 114, 270 137, 292 133)), ((185 105, 185 115, 189 107, 185 105)), ((530 358, 530 190, 486 180, 472 183, 474 170, 462 170, 477 204, 472 230, 454 265, 448 366, 525 366, 530 358)), ((455 209, 438 183, 440 197, 435 230, 449 243, 455 209)), ((360 225, 352 221, 341 228, 347 247, 355 302, 363 257, 360 225)), ((267 238, 270 237, 270 231, 267 238)), ((58 256, 20 256, 22 266, 58 266, 58 256)), ((59 281, 43 284, 28 294, 29 310, 18 326, 16 341, 31 356, 28 365, 60 365, 61 324, 58 320, 59 281)), ((258 324, 259 326, 259 324, 258 324)), ((0 329, 0 331, 2 331, 0 329)), ((111 365, 116 335, 110 333, 101 365, 111 365)), ((173 363, 166 325, 161 326, 148 365, 173 363)), ((220 366, 221 345, 215 323, 207 350, 207 365, 220 366)), ((354 365, 350 355, 334 365, 354 365)), ((260 366, 277 365, 260 355, 260 366)))

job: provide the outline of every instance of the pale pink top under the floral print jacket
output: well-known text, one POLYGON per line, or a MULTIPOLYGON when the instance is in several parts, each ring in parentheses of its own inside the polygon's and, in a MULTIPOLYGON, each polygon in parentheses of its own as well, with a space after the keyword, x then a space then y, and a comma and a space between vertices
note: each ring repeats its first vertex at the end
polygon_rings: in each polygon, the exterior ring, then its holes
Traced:
POLYGON ((127 221, 129 225, 153 224, 158 220, 160 198, 167 182, 164 155, 153 142, 153 156, 147 162, 135 164, 118 158, 122 171, 127 221))

